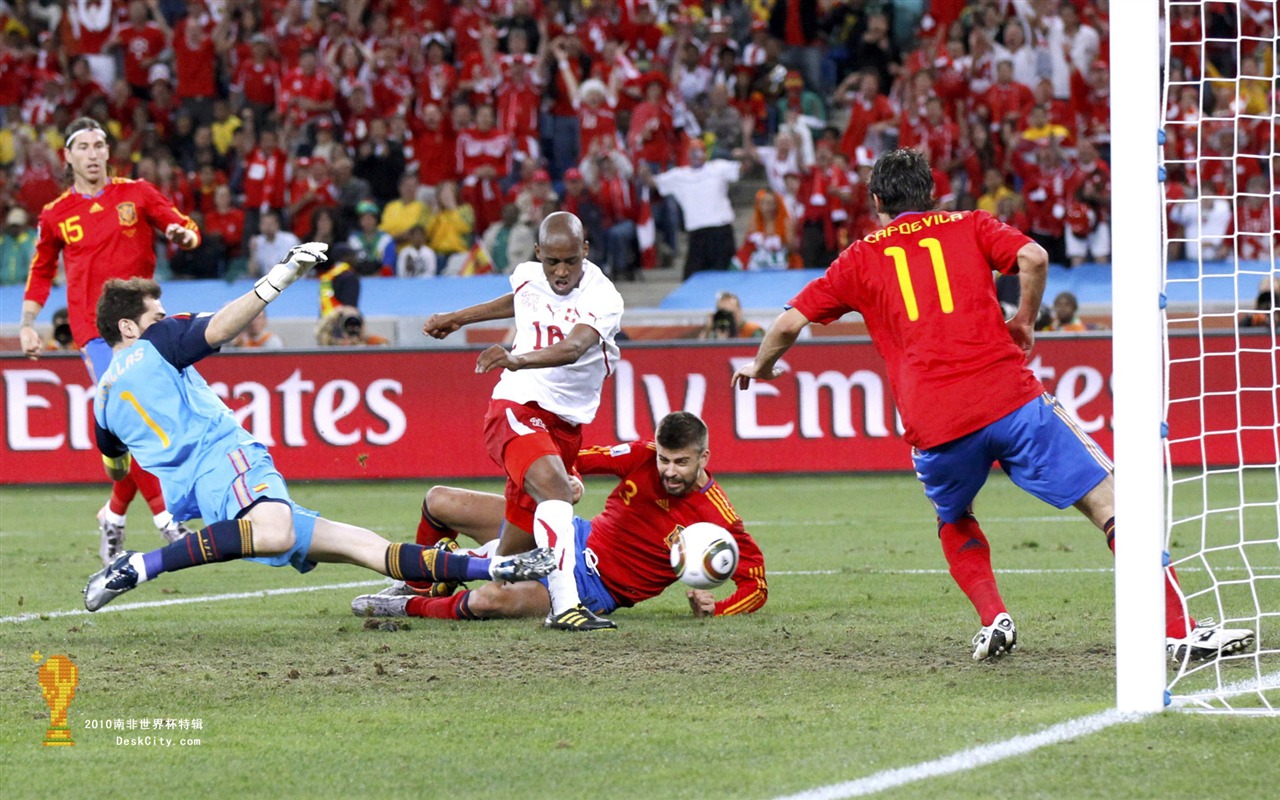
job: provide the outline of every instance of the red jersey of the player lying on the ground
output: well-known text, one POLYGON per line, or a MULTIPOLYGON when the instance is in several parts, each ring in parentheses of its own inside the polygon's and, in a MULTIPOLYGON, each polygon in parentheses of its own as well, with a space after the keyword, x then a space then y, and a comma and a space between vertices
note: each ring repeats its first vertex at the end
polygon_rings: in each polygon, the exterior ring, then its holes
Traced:
MULTIPOLYGON (((682 497, 662 484, 653 442, 594 447, 579 452, 575 466, 584 475, 616 475, 617 488, 591 520, 586 547, 618 605, 631 607, 662 594, 676 582, 671 544, 694 522, 714 522, 737 540, 736 590, 716 603, 716 616, 753 612, 768 599, 764 554, 742 527, 733 506, 716 479, 682 497)), ((709 477, 709 476, 708 476, 709 477)))

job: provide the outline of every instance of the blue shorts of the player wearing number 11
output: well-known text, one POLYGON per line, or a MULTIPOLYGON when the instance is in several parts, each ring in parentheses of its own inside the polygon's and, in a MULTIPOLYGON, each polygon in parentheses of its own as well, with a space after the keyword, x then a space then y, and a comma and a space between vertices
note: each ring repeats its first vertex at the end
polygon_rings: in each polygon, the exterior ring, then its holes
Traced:
POLYGON ((1055 508, 1079 502, 1114 470, 1102 448, 1048 393, 954 442, 913 449, 911 457, 943 522, 969 511, 996 461, 1018 486, 1055 508))

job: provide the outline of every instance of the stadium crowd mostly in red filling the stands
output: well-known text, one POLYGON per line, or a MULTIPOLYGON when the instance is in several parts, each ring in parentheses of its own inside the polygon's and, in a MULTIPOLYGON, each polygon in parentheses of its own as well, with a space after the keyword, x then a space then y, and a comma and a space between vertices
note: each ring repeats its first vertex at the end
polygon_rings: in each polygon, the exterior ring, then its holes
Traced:
MULTIPOLYGON (((198 221, 200 248, 164 253, 177 276, 259 274, 278 233, 344 243, 364 275, 509 271, 563 209, 635 278, 678 250, 663 174, 717 160, 762 188, 735 209, 736 251, 692 269, 824 266, 878 225, 867 177, 895 146, 927 154, 941 207, 991 211, 1057 264, 1110 257, 1107 0, 17 5, 0 3, 0 215, 35 220, 63 191, 60 132, 92 116, 116 175, 198 221)), ((1202 45, 1235 27, 1228 5, 1172 20, 1172 197, 1276 187, 1274 4, 1240 3, 1239 51, 1202 45), (1198 83, 1236 74, 1261 79, 1198 83), (1258 155, 1184 169, 1197 142, 1258 155)), ((1193 204, 1172 238, 1257 228, 1236 247, 1261 252, 1277 204, 1254 205, 1193 204)))

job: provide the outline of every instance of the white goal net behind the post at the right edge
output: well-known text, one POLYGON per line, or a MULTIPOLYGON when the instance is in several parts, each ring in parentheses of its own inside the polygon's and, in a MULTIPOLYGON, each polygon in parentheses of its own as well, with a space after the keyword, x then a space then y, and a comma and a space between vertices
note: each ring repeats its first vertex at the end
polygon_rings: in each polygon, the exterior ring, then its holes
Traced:
POLYGON ((1277 5, 1162 0, 1165 550, 1192 617, 1256 635, 1171 660, 1172 708, 1280 713, 1277 5))

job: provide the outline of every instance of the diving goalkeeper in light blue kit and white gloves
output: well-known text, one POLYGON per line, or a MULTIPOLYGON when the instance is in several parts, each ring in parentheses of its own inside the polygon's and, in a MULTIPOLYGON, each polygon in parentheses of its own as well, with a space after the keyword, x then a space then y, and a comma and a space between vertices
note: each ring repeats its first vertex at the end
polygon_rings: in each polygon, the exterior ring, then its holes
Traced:
POLYGON ((307 572, 316 562, 353 563, 404 580, 531 580, 552 571, 548 549, 474 558, 332 522, 289 499, 266 447, 236 422, 195 364, 234 339, 289 284, 325 260, 326 244, 298 244, 250 292, 216 314, 166 316, 160 287, 113 279, 97 302, 111 362, 93 397, 97 447, 108 474, 131 454, 160 479, 178 520, 207 527, 150 553, 125 550, 90 577, 84 608, 97 611, 164 572, 250 558, 307 572))

